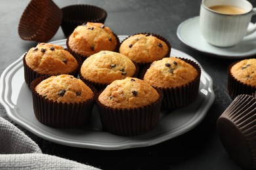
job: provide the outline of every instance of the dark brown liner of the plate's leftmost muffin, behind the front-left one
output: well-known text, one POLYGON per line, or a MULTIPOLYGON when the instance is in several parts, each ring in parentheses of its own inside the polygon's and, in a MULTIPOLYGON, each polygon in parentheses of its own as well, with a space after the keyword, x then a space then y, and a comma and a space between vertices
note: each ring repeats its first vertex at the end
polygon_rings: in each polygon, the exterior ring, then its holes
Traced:
MULTIPOLYGON (((27 63, 26 63, 26 54, 24 54, 24 57, 23 57, 23 67, 24 67, 24 78, 25 78, 25 82, 26 84, 28 85, 28 87, 30 88, 30 84, 32 83, 32 81, 35 79, 35 78, 38 78, 40 76, 53 76, 53 75, 44 75, 44 74, 41 74, 41 73, 38 73, 37 71, 33 71, 33 69, 31 69, 27 63)), ((81 59, 77 59, 77 62, 78 62, 78 67, 77 69, 75 69, 74 71, 70 72, 70 73, 65 73, 66 75, 73 75, 75 77, 78 76, 78 73, 79 73, 79 70, 80 70, 80 67, 81 67, 81 59)))

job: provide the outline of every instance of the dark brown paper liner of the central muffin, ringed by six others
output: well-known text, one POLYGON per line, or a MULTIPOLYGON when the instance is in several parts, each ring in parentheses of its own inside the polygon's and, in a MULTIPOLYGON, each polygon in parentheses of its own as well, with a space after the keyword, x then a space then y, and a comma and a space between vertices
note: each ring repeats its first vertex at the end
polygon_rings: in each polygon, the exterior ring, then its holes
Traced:
MULTIPOLYGON (((134 64, 135 64, 135 67, 136 67, 136 71, 135 71, 135 73, 132 77, 137 77, 139 75, 139 65, 137 65, 137 63, 134 63, 134 64)), ((88 80, 87 78, 85 78, 81 75, 81 70, 79 71, 79 78, 85 84, 90 85, 90 86, 94 86, 96 88, 96 90, 98 90, 98 91, 104 90, 104 88, 106 88, 106 86, 108 86, 108 84, 105 84, 105 83, 98 83, 98 82, 93 82, 91 80, 88 80)))

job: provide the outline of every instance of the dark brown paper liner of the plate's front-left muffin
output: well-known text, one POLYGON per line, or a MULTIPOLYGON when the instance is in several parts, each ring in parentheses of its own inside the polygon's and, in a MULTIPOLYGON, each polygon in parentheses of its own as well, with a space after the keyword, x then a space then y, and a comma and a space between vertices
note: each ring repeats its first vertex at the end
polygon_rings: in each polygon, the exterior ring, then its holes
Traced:
MULTIPOLYGON (((33 110, 37 120, 46 126, 57 128, 78 127, 88 122, 95 103, 95 95, 92 99, 81 103, 49 101, 35 92, 35 86, 45 78, 47 77, 36 78, 31 84, 33 110)), ((93 90, 93 92, 96 91, 93 90)))

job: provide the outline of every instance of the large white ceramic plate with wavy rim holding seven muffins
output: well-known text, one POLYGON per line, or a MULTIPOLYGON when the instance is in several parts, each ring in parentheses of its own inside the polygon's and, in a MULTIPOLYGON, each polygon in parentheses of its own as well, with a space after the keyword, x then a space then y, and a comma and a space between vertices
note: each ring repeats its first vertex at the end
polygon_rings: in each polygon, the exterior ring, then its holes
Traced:
MULTIPOLYGON (((124 36, 119 37, 124 38, 124 36)), ((51 43, 65 46, 65 42, 66 39, 51 43)), ((175 49, 172 49, 171 56, 196 61, 191 56, 175 49)), ((56 129, 38 122, 33 114, 32 94, 24 82, 22 56, 7 67, 1 75, 0 102, 11 120, 48 141, 81 148, 121 150, 158 144, 197 126, 215 99, 212 86, 211 77, 202 69, 200 92, 196 101, 188 107, 174 110, 169 114, 161 113, 158 126, 136 137, 122 137, 103 131, 96 107, 93 109, 90 124, 79 129, 56 129)))

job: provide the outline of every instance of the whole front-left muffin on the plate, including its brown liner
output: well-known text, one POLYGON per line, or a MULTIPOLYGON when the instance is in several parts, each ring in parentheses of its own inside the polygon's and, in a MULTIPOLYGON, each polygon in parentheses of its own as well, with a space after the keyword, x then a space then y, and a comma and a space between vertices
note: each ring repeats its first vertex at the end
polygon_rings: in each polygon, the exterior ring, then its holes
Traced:
POLYGON ((31 84, 33 110, 46 126, 71 128, 89 121, 95 91, 72 75, 41 76, 31 84))

